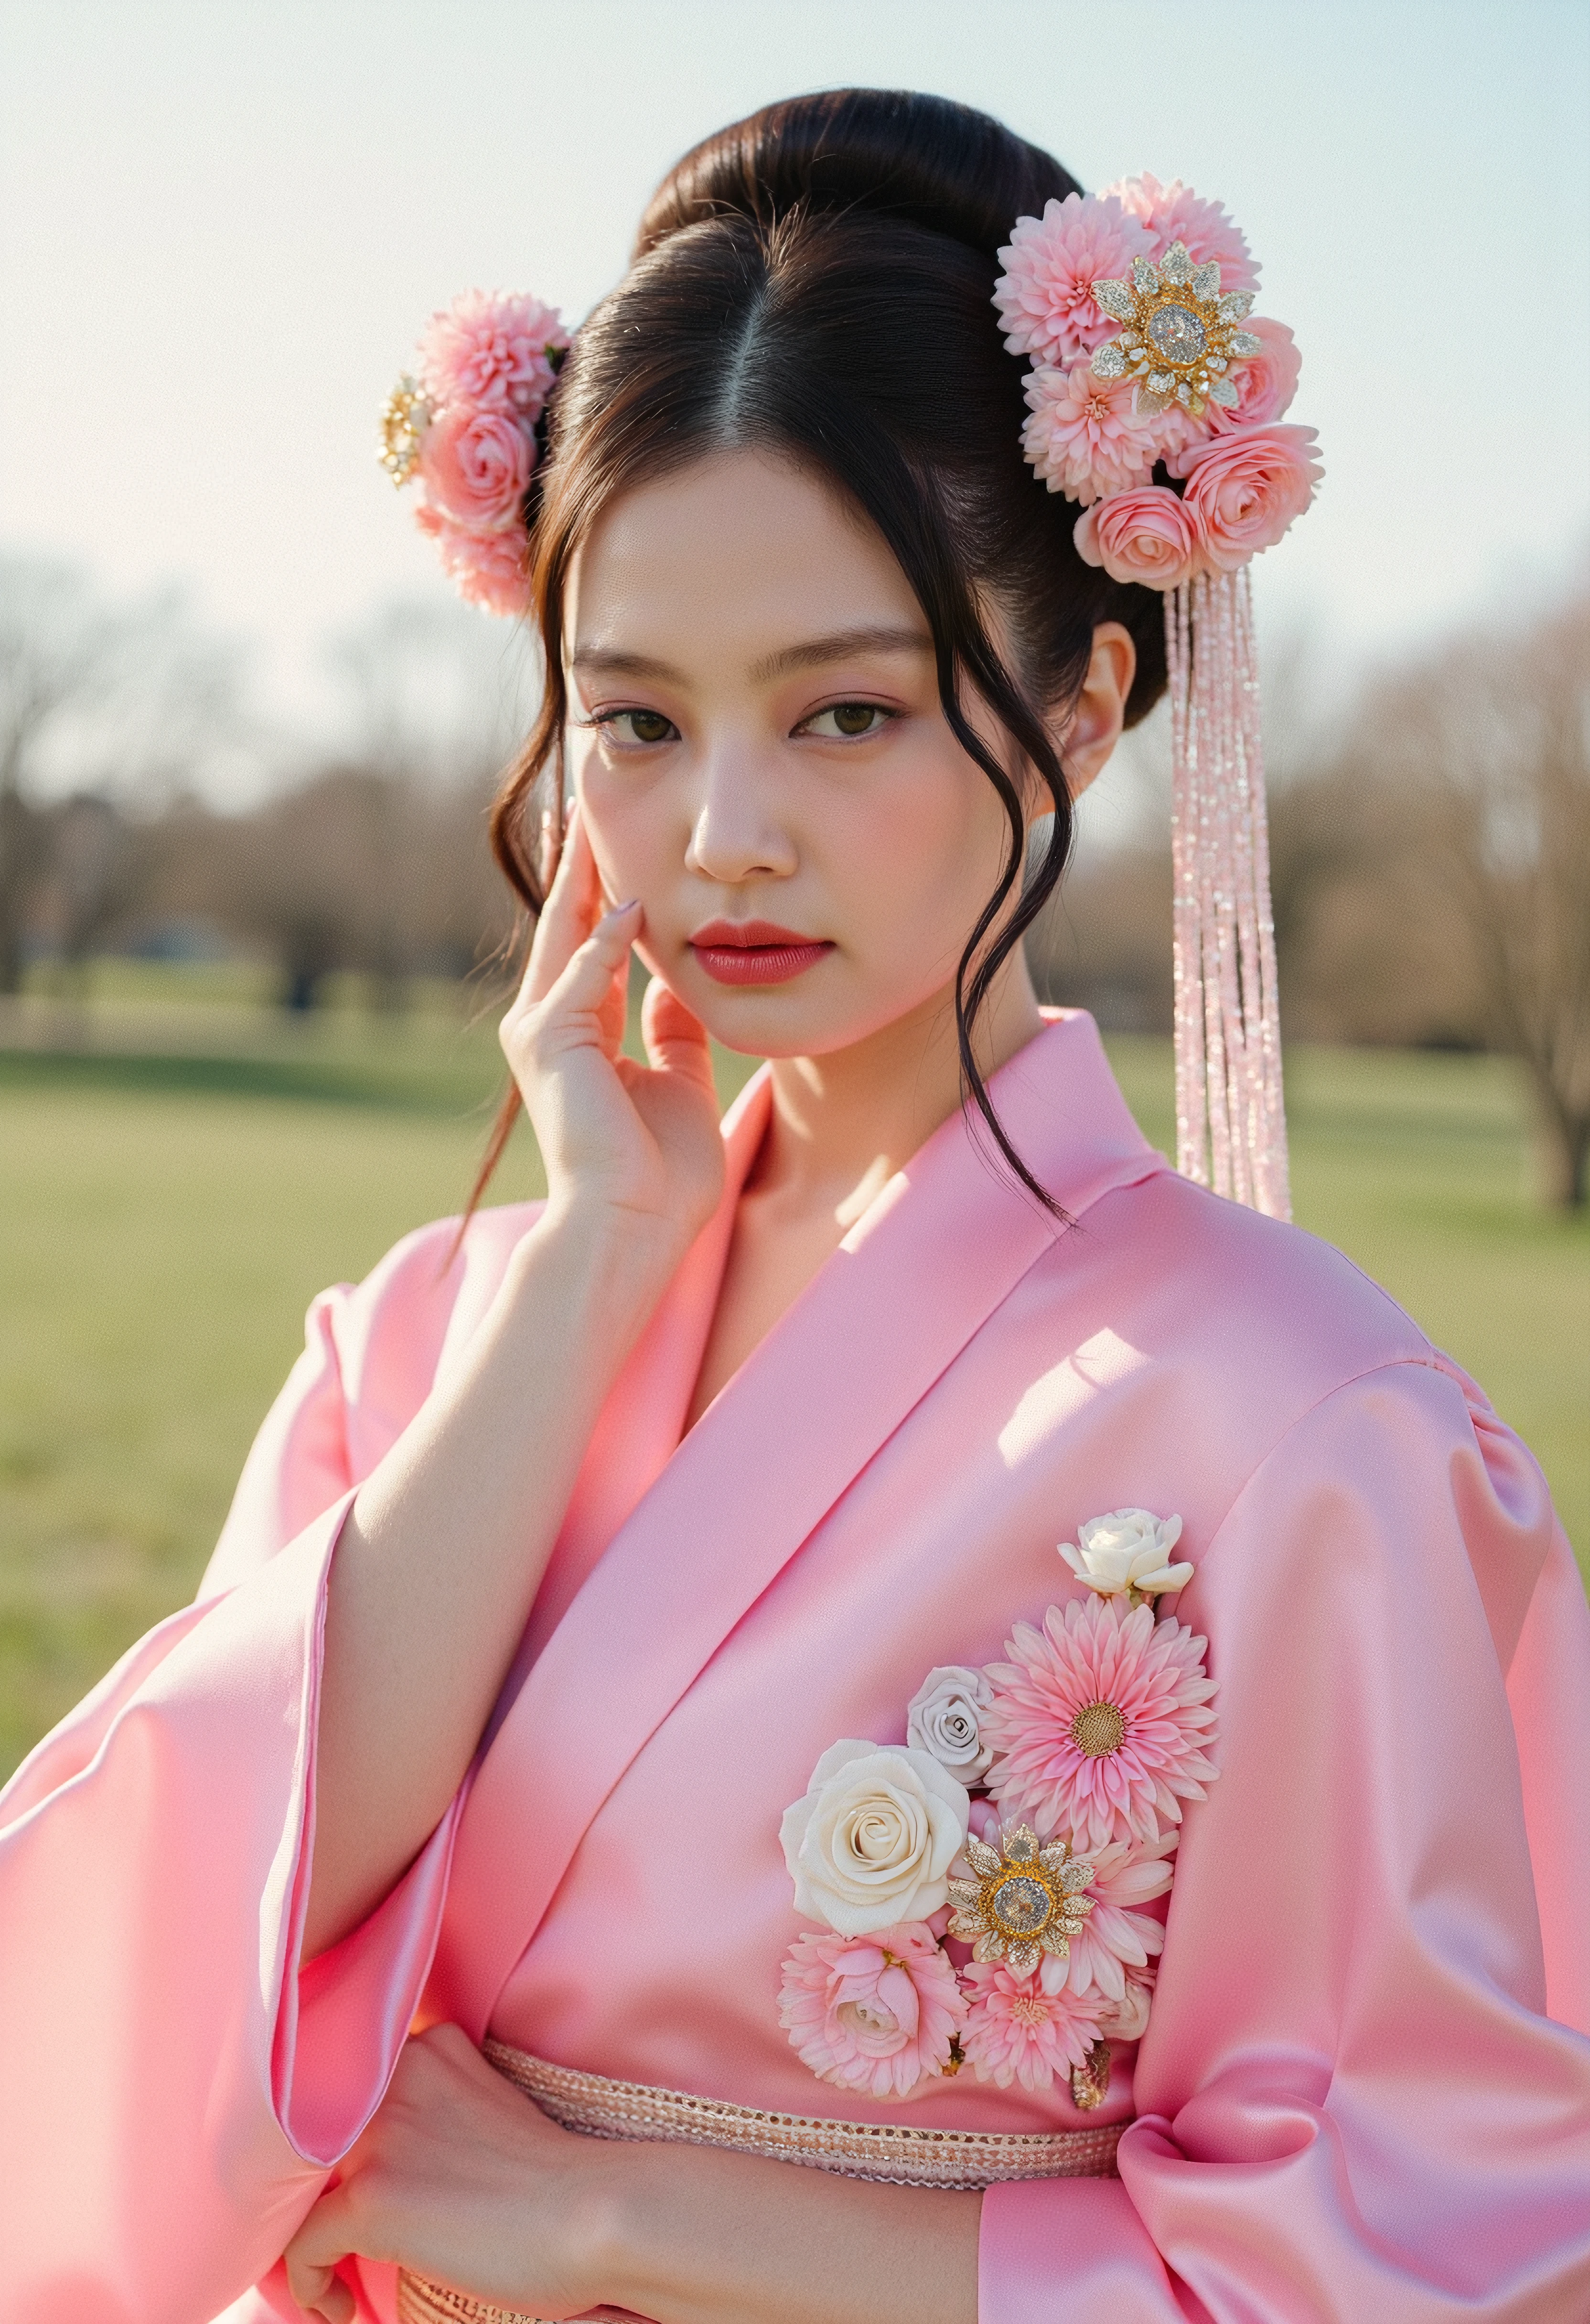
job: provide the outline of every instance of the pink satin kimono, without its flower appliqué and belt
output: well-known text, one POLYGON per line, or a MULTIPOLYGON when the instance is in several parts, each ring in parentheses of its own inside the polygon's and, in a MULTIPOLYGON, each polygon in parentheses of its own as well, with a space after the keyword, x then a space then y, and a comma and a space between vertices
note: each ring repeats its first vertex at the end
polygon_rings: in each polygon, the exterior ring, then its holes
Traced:
MULTIPOLYGON (((1088 1018, 995 1099, 1074 1225, 953 1116, 681 1441, 751 1083, 472 1783, 300 1971, 337 1529, 535 1213, 316 1301, 200 1601, 0 1799, 5 2324, 295 2315, 272 2264, 421 2008, 797 2115, 1134 2117, 1118 2178, 983 2199, 983 2324, 1590 2317, 1590 1613, 1541 1473, 1339 1253, 1144 1143, 1088 1018), (1120 1506, 1181 1513, 1220 1690, 1148 2031, 1097 2115, 818 2082, 783 1808, 1081 1594, 1055 1543, 1120 1506)), ((363 2301, 391 2324, 391 2271, 363 2301)))

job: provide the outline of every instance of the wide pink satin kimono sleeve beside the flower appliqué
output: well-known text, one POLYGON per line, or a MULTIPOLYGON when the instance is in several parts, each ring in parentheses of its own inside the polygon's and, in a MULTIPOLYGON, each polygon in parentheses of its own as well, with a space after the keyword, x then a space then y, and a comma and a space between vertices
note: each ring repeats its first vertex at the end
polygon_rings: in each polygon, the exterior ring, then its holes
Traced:
POLYGON ((1309 1411, 1204 1550, 1120 2180, 995 2187, 981 2324, 1590 2317, 1590 1615, 1460 1373, 1309 1411), (1511 1697, 1511 1701, 1509 1701, 1511 1697))

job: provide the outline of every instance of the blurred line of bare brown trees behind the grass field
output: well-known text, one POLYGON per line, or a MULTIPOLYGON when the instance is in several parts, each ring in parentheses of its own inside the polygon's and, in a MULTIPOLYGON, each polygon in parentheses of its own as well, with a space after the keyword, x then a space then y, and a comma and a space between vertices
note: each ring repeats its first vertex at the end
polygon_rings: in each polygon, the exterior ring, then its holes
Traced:
MULTIPOLYGON (((332 660, 335 744, 284 753, 177 602, 107 609, 74 574, 0 560, 0 992, 30 962, 70 981, 193 941, 270 960, 293 1011, 332 971, 377 1009, 414 976, 467 976, 511 930, 486 846, 528 725, 507 634, 463 609, 377 616, 332 660), (256 804, 223 811, 239 772, 256 804)), ((1267 674, 1288 1034, 1520 1057, 1550 1195, 1583 1204, 1590 588, 1413 655, 1332 716, 1304 681, 1267 674)), ((1086 846, 1034 932, 1044 992, 1113 1030, 1169 1030, 1165 816, 1153 830, 1086 846)))

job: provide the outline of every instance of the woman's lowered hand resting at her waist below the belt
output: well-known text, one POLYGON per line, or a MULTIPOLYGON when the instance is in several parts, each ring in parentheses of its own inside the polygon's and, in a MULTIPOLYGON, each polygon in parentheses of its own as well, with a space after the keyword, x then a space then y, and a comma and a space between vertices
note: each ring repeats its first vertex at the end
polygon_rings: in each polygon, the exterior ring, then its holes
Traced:
POLYGON ((351 2324, 349 2254, 416 2268, 532 2315, 597 2305, 611 2150, 558 2129, 458 2027, 404 2045, 342 2182, 288 2243, 288 2289, 309 2315, 351 2324))

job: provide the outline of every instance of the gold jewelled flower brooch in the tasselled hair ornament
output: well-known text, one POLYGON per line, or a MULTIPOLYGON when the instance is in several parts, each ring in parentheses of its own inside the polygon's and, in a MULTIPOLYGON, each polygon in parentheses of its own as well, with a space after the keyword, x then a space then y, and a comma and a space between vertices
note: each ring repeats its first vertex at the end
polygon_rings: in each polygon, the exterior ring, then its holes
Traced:
POLYGON ((1097 281, 1093 297, 1125 325, 1093 349, 1093 376, 1134 379, 1144 414, 1183 404, 1202 418, 1206 402, 1234 404, 1230 367, 1265 344, 1237 328, 1253 311, 1253 293, 1223 293, 1216 260, 1192 265, 1186 242, 1172 242, 1158 265, 1134 258, 1130 281, 1097 281))

